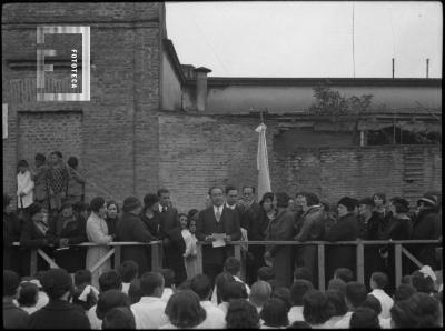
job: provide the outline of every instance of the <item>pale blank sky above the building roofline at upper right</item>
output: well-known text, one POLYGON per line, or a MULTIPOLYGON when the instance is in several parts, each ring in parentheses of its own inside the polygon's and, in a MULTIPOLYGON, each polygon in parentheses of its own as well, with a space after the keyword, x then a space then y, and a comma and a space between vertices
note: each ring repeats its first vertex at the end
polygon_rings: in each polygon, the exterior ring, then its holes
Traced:
POLYGON ((425 78, 429 58, 429 78, 442 78, 442 10, 434 1, 166 2, 179 61, 210 77, 390 78, 395 58, 395 78, 425 78))

